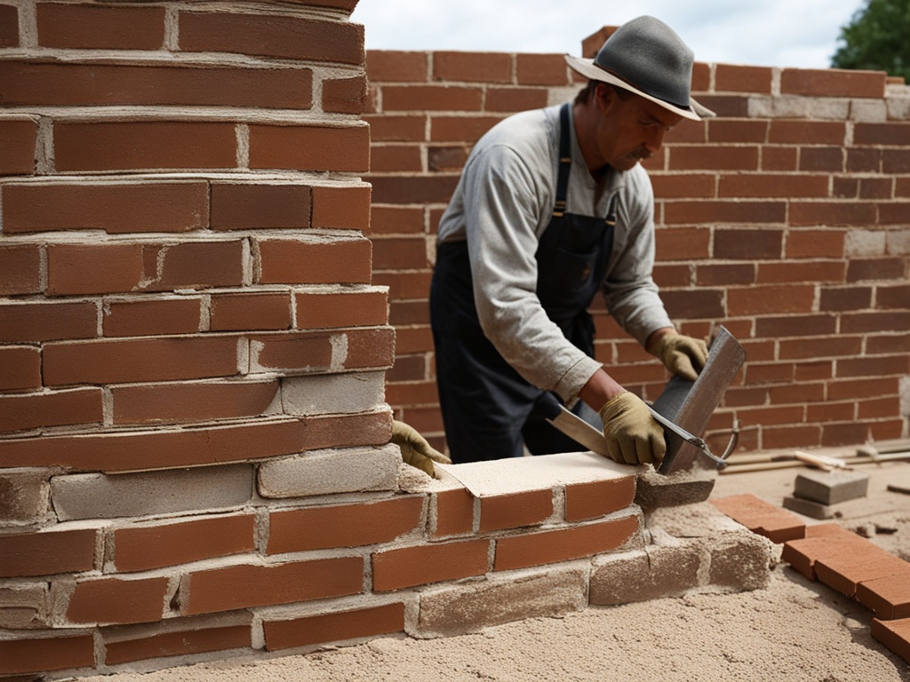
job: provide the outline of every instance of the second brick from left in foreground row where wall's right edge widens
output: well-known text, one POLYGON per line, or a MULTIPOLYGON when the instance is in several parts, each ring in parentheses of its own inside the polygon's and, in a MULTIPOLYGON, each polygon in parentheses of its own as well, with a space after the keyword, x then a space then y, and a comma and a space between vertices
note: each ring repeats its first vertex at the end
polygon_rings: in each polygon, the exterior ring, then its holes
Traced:
POLYGON ((107 301, 104 336, 196 334, 202 302, 199 298, 107 301))

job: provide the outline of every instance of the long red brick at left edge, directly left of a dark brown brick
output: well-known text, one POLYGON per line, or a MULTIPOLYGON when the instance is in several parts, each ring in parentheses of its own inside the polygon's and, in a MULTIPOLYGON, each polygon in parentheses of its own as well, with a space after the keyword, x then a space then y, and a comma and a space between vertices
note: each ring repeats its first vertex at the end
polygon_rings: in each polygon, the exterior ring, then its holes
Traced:
POLYGON ((200 182, 111 185, 8 185, 4 231, 100 229, 186 232, 207 226, 207 185, 200 182))

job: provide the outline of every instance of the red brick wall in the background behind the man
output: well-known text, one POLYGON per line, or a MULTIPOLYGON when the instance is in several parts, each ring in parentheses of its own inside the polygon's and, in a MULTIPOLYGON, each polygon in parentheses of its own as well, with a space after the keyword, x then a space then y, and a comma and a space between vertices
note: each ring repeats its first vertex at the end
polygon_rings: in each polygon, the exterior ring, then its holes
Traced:
MULTIPOLYGON (((370 52, 367 73, 373 281, 398 336, 387 395, 442 446, 428 309, 440 214, 480 135, 580 85, 562 55, 370 52)), ((723 449, 733 418, 741 450, 907 436, 910 90, 875 72, 696 64, 693 92, 718 116, 683 122, 646 165, 673 320, 703 337, 723 324, 748 353, 709 439, 723 449)), ((662 366, 601 300, 592 312, 598 359, 657 396, 662 366)))

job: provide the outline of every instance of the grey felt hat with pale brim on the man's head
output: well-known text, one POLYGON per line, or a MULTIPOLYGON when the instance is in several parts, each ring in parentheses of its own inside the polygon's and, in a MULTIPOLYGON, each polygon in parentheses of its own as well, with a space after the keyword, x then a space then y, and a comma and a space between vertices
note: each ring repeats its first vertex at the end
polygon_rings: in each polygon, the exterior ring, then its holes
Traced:
POLYGON ((593 59, 566 55, 566 62, 581 75, 700 121, 714 113, 689 95, 693 59, 682 38, 653 16, 639 16, 617 28, 593 59))

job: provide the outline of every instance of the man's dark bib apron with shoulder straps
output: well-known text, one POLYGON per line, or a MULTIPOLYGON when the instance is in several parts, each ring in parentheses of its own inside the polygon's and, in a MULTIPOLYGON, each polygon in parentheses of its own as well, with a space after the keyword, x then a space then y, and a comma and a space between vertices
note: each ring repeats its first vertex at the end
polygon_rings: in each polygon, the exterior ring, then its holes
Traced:
MULTIPOLYGON (((588 306, 606 274, 616 198, 606 219, 564 212, 571 170, 569 106, 562 105, 560 111, 556 205, 535 254, 537 296, 565 337, 593 357, 594 323, 588 306)), ((484 336, 474 305, 467 242, 439 247, 430 286, 430 321, 452 461, 522 456, 522 445, 533 455, 580 448, 543 418, 541 401, 559 398, 529 384, 484 336)), ((600 417, 581 401, 573 411, 602 426, 600 417)))

